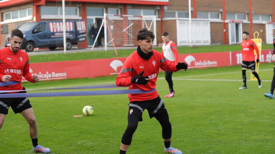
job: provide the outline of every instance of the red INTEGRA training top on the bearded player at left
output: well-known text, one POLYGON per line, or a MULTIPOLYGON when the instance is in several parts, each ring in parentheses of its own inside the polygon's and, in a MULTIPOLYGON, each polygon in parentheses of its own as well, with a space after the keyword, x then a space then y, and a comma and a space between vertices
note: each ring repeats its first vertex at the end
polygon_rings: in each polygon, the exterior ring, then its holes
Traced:
POLYGON ((17 81, 19 83, 10 86, 0 86, 1 91, 6 90, 22 90, 22 76, 29 82, 32 80, 32 75, 29 72, 30 64, 28 54, 21 49, 18 52, 13 52, 9 46, 0 49, 0 82, 4 75, 10 75, 12 78, 9 81, 17 81))

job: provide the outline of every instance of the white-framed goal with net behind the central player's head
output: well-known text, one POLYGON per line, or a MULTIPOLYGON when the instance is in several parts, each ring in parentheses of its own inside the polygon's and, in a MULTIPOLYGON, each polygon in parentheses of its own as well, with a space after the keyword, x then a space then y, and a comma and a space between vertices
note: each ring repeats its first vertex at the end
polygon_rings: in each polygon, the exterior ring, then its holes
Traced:
MULTIPOLYGON (((146 28, 156 37, 156 16, 104 14, 105 49, 108 46, 138 46, 138 30, 146 28)), ((153 45, 157 45, 154 41, 153 45)))

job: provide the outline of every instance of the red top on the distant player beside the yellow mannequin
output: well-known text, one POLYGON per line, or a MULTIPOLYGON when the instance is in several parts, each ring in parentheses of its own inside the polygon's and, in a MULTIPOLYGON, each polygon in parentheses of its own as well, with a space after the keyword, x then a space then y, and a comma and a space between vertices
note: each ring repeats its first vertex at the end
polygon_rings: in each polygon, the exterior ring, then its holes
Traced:
POLYGON ((251 39, 243 40, 241 43, 241 48, 242 48, 242 60, 243 61, 255 61, 255 56, 254 56, 254 49, 257 54, 257 59, 259 59, 259 49, 257 45, 255 44, 254 41, 251 39))

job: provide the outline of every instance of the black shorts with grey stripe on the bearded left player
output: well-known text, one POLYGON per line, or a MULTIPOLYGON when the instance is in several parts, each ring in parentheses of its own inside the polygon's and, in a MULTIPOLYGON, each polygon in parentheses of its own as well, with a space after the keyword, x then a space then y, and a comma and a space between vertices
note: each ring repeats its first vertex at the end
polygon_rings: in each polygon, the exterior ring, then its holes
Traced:
MULTIPOLYGON (((23 88, 25 90, 25 88, 23 88)), ((27 93, 26 91, 20 91, 18 93, 27 93)), ((7 94, 7 93, 1 93, 7 94)), ((29 101, 29 98, 0 98, 0 113, 8 114, 9 107, 12 107, 12 110, 15 114, 21 113, 22 111, 32 108, 32 105, 29 101)))

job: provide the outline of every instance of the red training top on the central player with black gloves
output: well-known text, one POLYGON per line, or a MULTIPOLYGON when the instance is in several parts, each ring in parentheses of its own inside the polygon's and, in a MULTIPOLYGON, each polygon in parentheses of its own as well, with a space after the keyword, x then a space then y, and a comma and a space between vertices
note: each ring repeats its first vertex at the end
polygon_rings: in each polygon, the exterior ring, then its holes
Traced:
MULTIPOLYGON (((153 55, 149 59, 143 59, 139 56, 138 51, 133 52, 124 62, 121 72, 116 78, 117 86, 130 86, 129 89, 140 89, 150 91, 156 87, 159 68, 168 72, 177 72, 176 63, 169 61, 158 51, 152 50, 153 55), (143 76, 149 77, 146 85, 134 84, 131 82, 132 77, 137 76, 144 71, 143 76)), ((158 97, 158 92, 153 91, 146 94, 129 94, 131 101, 152 100, 158 97)))

